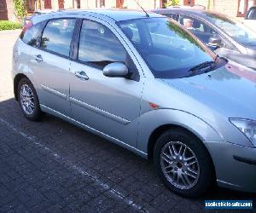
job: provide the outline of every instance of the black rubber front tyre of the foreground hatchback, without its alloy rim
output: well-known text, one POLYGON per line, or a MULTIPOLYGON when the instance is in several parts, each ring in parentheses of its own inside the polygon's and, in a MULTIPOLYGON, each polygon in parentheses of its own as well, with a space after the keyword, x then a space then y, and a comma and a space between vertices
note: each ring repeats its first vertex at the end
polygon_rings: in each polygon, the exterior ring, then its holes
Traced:
POLYGON ((207 189, 212 185, 213 182, 213 168, 212 161, 207 153, 206 147, 201 143, 195 135, 190 134, 184 130, 168 130, 164 134, 160 135, 159 139, 156 141, 154 147, 154 165, 157 170, 158 175, 161 180, 164 181, 166 187, 171 189, 174 193, 178 193, 184 197, 194 198, 205 193, 207 189), (189 189, 180 189, 172 185, 170 181, 164 175, 161 165, 160 165, 160 153, 163 147, 170 141, 180 141, 187 145, 197 158, 200 167, 200 176, 194 187, 189 189))

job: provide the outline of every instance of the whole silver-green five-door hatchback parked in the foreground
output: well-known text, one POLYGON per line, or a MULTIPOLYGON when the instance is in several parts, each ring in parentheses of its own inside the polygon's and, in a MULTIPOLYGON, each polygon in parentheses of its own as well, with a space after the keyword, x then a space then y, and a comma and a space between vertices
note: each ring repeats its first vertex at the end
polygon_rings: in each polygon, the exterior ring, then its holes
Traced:
POLYGON ((47 112, 152 158, 175 193, 199 196, 215 182, 256 192, 256 73, 175 20, 113 9, 38 15, 15 43, 12 73, 26 118, 47 112))

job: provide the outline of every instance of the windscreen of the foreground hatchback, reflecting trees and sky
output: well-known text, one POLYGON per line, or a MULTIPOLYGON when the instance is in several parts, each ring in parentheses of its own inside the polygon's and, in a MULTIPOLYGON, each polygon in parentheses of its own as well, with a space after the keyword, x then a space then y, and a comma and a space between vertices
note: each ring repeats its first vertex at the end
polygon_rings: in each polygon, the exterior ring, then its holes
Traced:
POLYGON ((156 78, 188 77, 191 67, 214 60, 215 55, 174 20, 144 18, 118 24, 156 78))

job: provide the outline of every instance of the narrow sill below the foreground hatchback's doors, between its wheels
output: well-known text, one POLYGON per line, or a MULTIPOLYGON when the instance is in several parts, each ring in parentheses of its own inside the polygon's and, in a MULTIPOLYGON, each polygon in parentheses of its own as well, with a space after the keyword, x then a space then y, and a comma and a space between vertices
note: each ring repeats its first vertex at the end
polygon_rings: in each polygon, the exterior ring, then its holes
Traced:
POLYGON ((118 139, 110 136, 110 135, 107 135, 99 130, 95 130, 93 128, 91 128, 90 126, 88 125, 85 125, 85 124, 82 124, 80 123, 79 121, 73 119, 73 118, 69 118, 67 117, 66 115, 62 114, 61 112, 57 112, 49 107, 46 107, 44 106, 43 104, 40 104, 40 108, 43 112, 47 112, 51 115, 54 115, 55 117, 58 117, 58 118, 62 118, 63 120, 66 120, 67 122, 71 123, 71 124, 74 124, 74 125, 77 125, 81 128, 83 128, 84 130, 88 130, 90 131, 91 133, 93 134, 96 134, 96 135, 99 135, 103 138, 105 138, 106 140, 108 141, 112 141, 113 143, 121 146, 121 147, 125 147, 126 149, 130 150, 131 152, 133 153, 137 153, 137 155, 143 157, 143 158, 148 158, 148 154, 147 153, 143 153, 142 151, 138 150, 137 148, 135 147, 131 147, 130 145, 126 144, 125 142, 123 141, 119 141, 118 139))

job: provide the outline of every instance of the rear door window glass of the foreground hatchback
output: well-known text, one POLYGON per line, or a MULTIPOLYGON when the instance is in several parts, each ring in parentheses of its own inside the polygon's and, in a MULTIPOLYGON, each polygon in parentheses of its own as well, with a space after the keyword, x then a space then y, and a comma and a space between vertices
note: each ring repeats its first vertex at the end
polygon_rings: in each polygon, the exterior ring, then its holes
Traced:
POLYGON ((49 20, 44 28, 41 48, 69 56, 75 22, 75 19, 49 20))

